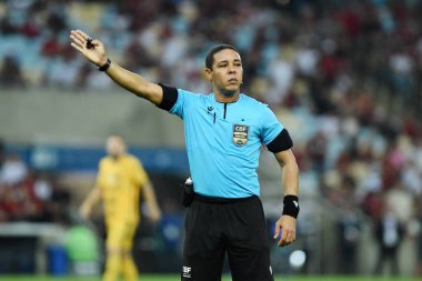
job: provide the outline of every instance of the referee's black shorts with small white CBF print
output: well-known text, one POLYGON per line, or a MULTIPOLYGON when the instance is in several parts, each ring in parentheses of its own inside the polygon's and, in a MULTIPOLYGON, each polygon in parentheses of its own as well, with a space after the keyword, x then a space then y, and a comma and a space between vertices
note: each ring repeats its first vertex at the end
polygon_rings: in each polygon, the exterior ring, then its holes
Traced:
POLYGON ((225 252, 233 281, 274 280, 258 197, 195 197, 185 220, 181 280, 220 281, 225 252))

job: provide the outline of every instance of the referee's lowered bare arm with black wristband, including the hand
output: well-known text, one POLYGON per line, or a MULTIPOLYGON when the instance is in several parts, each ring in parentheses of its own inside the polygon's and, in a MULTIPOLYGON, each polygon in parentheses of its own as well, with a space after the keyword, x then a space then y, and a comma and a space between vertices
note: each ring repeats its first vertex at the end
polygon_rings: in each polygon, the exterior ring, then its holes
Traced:
POLYGON ((281 232, 278 245, 283 247, 295 240, 295 223, 299 212, 299 168, 291 149, 274 153, 282 171, 284 187, 284 209, 282 217, 275 222, 274 239, 281 232))

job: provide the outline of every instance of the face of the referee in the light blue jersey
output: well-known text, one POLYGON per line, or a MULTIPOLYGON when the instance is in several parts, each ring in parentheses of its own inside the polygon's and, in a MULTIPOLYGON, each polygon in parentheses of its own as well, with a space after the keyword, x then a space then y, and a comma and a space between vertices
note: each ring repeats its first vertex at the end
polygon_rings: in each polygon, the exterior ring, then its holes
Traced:
POLYGON ((214 53, 212 69, 205 69, 214 91, 225 97, 238 94, 242 84, 242 60, 232 49, 223 49, 214 53))

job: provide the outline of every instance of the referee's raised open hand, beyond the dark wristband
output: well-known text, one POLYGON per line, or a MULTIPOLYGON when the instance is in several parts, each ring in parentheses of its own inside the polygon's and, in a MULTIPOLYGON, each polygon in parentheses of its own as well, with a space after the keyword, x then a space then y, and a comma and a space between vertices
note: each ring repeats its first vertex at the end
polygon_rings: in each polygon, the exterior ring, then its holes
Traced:
POLYGON ((100 40, 90 38, 82 30, 70 31, 71 46, 97 67, 107 62, 105 48, 100 40))

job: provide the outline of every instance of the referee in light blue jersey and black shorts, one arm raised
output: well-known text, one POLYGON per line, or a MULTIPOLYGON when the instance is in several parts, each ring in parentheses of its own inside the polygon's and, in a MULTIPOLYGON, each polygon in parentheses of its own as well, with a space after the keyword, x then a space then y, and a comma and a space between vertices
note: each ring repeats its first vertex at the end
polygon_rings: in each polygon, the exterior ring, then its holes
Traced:
POLYGON ((110 61, 101 41, 80 30, 71 46, 132 93, 183 120, 194 200, 185 221, 181 280, 221 280, 228 253, 234 281, 273 280, 257 168, 262 144, 282 171, 284 208, 274 239, 295 240, 299 169, 287 129, 263 103, 240 92, 243 68, 229 44, 212 48, 205 76, 213 92, 200 94, 147 81, 110 61))

